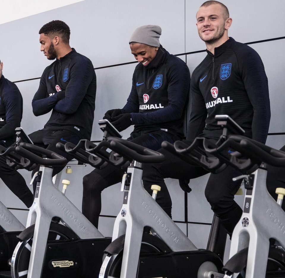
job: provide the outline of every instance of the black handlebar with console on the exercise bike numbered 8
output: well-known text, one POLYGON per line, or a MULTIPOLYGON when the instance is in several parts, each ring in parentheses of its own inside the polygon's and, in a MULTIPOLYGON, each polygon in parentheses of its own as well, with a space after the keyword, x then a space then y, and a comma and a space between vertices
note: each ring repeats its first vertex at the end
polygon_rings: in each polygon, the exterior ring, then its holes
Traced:
POLYGON ((174 145, 164 142, 162 146, 186 162, 197 163, 214 173, 231 165, 248 174, 255 171, 262 162, 285 167, 285 152, 241 135, 244 131, 227 115, 216 116, 216 120, 224 128, 216 144, 207 138, 198 137, 191 145, 176 141, 174 145), (229 134, 230 132, 238 135, 229 134))

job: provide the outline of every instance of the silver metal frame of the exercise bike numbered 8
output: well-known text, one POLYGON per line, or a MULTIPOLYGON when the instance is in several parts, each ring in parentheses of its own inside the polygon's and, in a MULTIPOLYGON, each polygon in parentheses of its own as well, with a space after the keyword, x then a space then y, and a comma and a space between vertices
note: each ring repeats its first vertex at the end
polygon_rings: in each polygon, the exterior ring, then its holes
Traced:
POLYGON ((268 193, 266 176, 261 167, 250 175, 243 215, 232 234, 230 258, 248 247, 246 278, 265 277, 270 238, 285 247, 285 213, 268 193))

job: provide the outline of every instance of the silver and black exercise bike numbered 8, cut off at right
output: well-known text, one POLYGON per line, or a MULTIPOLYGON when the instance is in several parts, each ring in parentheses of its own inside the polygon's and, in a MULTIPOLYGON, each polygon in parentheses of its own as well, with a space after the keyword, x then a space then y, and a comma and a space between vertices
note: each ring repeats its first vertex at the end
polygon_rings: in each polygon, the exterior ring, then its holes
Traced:
POLYGON ((277 203, 266 188, 265 165, 285 167, 285 153, 242 136, 244 131, 227 115, 217 115, 216 120, 224 128, 216 145, 196 138, 191 146, 177 141, 174 146, 164 142, 163 147, 212 172, 231 165, 243 173, 235 178, 245 180, 243 215, 232 235, 224 278, 285 277, 285 213, 280 206, 285 189, 277 188, 277 203))

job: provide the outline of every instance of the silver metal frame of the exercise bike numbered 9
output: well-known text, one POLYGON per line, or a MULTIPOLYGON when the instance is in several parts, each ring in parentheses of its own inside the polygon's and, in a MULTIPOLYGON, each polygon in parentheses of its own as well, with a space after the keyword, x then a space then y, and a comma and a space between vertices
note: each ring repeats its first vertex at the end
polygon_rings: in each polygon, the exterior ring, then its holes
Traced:
POLYGON ((53 217, 61 218, 61 221, 80 239, 105 238, 80 210, 54 186, 52 168, 41 166, 39 173, 41 181, 37 184, 34 203, 30 208, 26 225, 29 227, 35 224, 28 278, 41 277, 47 237, 53 217))

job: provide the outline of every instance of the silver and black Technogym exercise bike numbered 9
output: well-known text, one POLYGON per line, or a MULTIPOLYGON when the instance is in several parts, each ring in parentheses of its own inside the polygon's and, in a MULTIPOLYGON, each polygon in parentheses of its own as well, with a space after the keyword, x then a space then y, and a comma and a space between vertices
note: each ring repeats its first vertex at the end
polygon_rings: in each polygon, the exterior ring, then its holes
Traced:
POLYGON ((7 148, 0 156, 28 170, 42 165, 33 178, 37 188, 27 228, 18 235, 12 256, 12 277, 98 276, 103 250, 111 238, 104 237, 66 198, 69 181, 64 181, 62 192, 54 186, 52 166, 66 165, 66 159, 25 142, 7 148))

